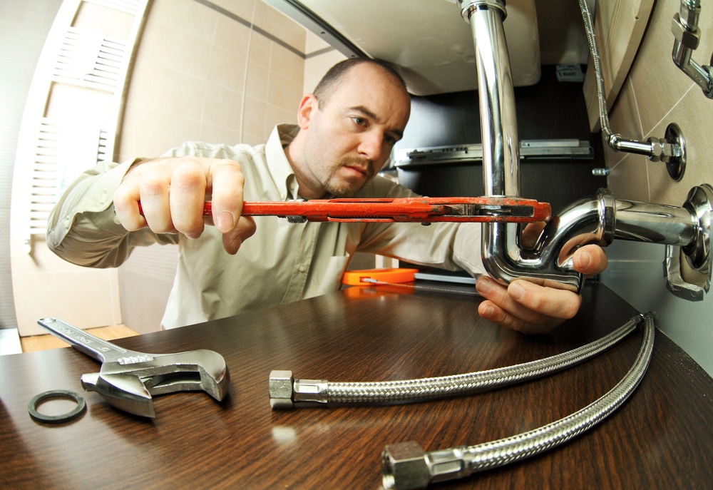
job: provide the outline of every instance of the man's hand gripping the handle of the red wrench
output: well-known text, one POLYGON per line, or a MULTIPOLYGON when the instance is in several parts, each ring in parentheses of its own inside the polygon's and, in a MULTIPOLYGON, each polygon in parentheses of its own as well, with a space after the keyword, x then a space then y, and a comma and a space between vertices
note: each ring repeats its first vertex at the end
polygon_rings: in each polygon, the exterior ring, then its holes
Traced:
POLYGON ((244 183, 240 165, 233 160, 143 160, 134 163, 114 193, 114 210, 128 231, 148 227, 155 233, 198 238, 205 224, 214 225, 222 233, 225 251, 235 254, 242 241, 255 233, 255 220, 240 215, 244 183), (203 216, 208 199, 212 201, 210 218, 203 216))

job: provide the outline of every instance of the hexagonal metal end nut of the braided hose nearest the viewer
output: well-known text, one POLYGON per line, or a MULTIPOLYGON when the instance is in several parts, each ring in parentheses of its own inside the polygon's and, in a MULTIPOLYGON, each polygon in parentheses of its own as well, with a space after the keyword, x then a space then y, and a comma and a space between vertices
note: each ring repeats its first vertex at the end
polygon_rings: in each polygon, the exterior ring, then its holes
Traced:
POLYGON ((381 453, 384 490, 425 489, 431 475, 424 450, 414 441, 389 444, 381 453))

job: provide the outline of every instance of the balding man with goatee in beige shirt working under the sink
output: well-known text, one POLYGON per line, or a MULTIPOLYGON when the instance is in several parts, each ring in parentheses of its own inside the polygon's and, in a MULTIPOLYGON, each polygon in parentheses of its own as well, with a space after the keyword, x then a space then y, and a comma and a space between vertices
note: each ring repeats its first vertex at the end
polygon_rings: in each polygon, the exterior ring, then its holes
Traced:
MULTIPOLYGON (((343 61, 302 98, 298 126, 278 126, 265 146, 185 143, 164 158, 88 170, 53 211, 47 243, 92 267, 116 267, 135 246, 177 243, 165 328, 335 290, 356 251, 481 275, 479 224, 295 225, 240 215, 243 200, 414 195, 376 176, 409 114, 405 83, 389 66, 343 61), (207 198, 211 218, 202 216, 207 198)), ((575 255, 585 274, 605 266, 599 247, 575 255)), ((523 332, 546 332, 580 305, 578 295, 525 281, 481 277, 476 287, 483 317, 523 332)))

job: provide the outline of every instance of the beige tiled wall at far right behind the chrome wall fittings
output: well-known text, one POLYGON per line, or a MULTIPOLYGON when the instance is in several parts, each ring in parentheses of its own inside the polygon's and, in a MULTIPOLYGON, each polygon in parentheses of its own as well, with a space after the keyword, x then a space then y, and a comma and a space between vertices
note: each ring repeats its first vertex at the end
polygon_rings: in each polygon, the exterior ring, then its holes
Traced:
MULTIPOLYGON (((671 60, 673 35, 671 20, 679 9, 679 0, 660 0, 654 6, 645 39, 627 83, 631 83, 636 106, 618 103, 612 113, 618 121, 629 123, 640 118, 642 138, 663 138, 669 123, 677 123, 687 145, 687 168, 680 182, 672 180, 663 163, 627 155, 612 168, 609 186, 617 198, 635 198, 652 203, 681 206, 689 190, 701 183, 713 183, 713 101, 671 60), (644 178, 648 175, 648 179, 644 178), (647 185, 647 196, 642 187, 647 185)), ((703 36, 693 59, 707 63, 713 51, 713 4, 702 5, 699 29, 703 36)), ((708 327, 713 302, 708 293, 701 302, 688 302, 665 290, 660 278, 664 247, 615 242, 610 247, 610 267, 602 275, 607 286, 640 311, 653 310, 657 327, 677 342, 704 369, 713 372, 713 357, 707 346, 713 342, 708 327), (627 251, 630 250, 630 251, 627 251), (645 254, 650 254, 647 257, 645 254), (624 264, 622 266, 622 264, 624 264), (625 275, 616 271, 625 269, 625 275), (613 271, 613 272, 612 272, 613 271)))

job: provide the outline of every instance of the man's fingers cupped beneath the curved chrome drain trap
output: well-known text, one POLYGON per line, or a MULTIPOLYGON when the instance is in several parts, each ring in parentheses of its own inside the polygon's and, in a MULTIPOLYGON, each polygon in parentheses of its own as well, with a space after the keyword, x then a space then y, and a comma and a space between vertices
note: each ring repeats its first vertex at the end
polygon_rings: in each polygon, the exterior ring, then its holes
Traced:
POLYGON ((491 277, 476 283, 486 301, 478 307, 481 317, 523 333, 546 333, 579 310, 581 298, 574 292, 535 285, 524 280, 501 285, 491 277))

